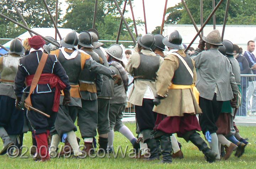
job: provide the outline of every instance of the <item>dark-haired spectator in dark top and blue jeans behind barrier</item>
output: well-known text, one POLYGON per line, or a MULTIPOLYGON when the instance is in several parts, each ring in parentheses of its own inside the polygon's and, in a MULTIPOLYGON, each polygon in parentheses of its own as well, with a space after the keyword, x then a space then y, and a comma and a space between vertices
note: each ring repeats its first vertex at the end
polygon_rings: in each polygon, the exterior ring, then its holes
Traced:
MULTIPOLYGON (((234 57, 239 63, 241 74, 250 74, 249 63, 247 59, 242 56, 242 48, 239 48, 238 45, 234 45, 234 57)), ((246 116, 246 89, 247 89, 246 77, 241 77, 241 88, 242 88, 242 103, 241 108, 238 110, 239 116, 246 116)))

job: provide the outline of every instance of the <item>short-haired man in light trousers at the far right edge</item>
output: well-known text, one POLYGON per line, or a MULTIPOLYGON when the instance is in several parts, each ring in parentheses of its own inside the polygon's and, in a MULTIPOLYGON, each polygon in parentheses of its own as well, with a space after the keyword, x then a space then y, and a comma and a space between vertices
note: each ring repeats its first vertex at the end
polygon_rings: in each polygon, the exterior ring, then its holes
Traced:
MULTIPOLYGON (((255 50, 255 42, 248 41, 247 43, 247 50, 244 53, 245 58, 249 63, 249 67, 252 69, 252 72, 256 74, 256 59, 252 52, 255 50)), ((256 83, 255 78, 252 81, 249 81, 249 87, 247 88, 247 98, 246 98, 246 105, 250 103, 252 97, 252 105, 250 106, 250 110, 252 113, 256 112, 256 83)))

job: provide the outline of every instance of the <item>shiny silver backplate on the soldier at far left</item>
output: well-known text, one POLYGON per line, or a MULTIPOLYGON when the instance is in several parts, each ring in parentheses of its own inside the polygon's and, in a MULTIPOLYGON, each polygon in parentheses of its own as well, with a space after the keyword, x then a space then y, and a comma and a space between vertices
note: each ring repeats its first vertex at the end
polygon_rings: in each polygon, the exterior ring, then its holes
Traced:
POLYGON ((3 56, 2 69, 0 69, 0 82, 14 86, 14 78, 18 69, 18 60, 21 56, 17 54, 7 54, 3 56))

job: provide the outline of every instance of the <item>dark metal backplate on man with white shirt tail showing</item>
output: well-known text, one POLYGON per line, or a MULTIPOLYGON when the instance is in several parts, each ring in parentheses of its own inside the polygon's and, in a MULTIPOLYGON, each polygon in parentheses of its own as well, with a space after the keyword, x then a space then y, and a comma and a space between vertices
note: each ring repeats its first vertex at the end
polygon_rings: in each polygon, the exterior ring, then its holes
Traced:
POLYGON ((142 53, 140 55, 140 64, 134 69, 134 80, 155 81, 156 72, 159 69, 160 56, 147 56, 142 53))

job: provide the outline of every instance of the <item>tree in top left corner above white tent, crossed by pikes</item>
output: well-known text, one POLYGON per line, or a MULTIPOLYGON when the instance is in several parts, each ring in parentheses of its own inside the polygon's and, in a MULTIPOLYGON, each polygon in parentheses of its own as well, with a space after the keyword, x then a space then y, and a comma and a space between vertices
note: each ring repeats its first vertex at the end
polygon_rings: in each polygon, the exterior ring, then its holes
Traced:
MULTIPOLYGON (((31 27, 53 27, 53 23, 50 20, 50 16, 42 0, 18 0, 15 1, 15 3, 19 11, 21 12, 24 20, 31 27)), ((53 16, 55 16, 55 3, 55 0, 47 0, 48 7, 53 16)), ((14 6, 9 0, 0 1, 0 6, 2 14, 5 14, 6 16, 14 19, 15 21, 21 21, 20 17, 16 13, 14 6)), ((58 16, 60 16, 60 12, 61 10, 59 6, 58 16)), ((20 23, 23 24, 22 22, 20 23)), ((1 29, 5 29, 5 31, 1 31, 0 29, 1 37, 16 37, 17 35, 20 35, 21 33, 24 33, 26 31, 25 29, 16 27, 15 24, 9 21, 5 21, 2 18, 0 18, 0 27, 1 29)))

